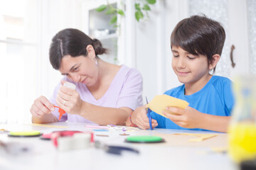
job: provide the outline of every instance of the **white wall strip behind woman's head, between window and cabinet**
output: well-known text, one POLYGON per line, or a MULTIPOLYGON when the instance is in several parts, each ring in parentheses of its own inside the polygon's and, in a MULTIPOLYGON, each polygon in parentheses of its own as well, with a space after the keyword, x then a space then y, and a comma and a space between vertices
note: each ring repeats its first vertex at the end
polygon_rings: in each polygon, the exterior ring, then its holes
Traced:
POLYGON ((43 0, 41 1, 41 55, 43 69, 41 77, 42 95, 50 97, 58 81, 63 77, 53 69, 49 61, 49 48, 53 36, 65 28, 82 29, 81 4, 74 0, 43 0))

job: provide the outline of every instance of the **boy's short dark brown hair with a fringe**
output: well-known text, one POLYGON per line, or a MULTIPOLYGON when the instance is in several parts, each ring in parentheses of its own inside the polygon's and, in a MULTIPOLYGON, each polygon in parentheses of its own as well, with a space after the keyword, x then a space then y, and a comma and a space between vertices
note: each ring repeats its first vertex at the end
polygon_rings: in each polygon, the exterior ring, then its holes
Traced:
MULTIPOLYGON (((171 33, 171 48, 181 47, 192 55, 206 55, 208 64, 213 55, 221 55, 225 42, 225 30, 206 16, 191 16, 180 21, 171 33)), ((213 68, 213 73, 215 68, 213 68)))

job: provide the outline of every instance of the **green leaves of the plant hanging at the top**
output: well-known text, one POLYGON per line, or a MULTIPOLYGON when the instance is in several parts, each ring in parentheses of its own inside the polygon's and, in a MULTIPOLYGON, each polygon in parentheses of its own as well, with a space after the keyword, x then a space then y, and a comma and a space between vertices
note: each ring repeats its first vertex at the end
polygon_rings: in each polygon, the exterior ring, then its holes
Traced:
MULTIPOLYGON (((128 0, 130 1, 130 0, 128 0)), ((156 0, 140 0, 138 3, 135 3, 135 18, 139 22, 140 19, 144 18, 146 15, 147 18, 149 18, 148 11, 151 11, 151 8, 149 5, 155 4, 156 0)), ((107 5, 101 5, 98 8, 95 9, 98 12, 105 11, 106 15, 112 15, 112 18, 110 19, 110 24, 114 24, 114 27, 117 27, 117 15, 124 16, 124 11, 120 8, 115 8, 107 1, 107 5)))

